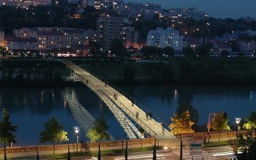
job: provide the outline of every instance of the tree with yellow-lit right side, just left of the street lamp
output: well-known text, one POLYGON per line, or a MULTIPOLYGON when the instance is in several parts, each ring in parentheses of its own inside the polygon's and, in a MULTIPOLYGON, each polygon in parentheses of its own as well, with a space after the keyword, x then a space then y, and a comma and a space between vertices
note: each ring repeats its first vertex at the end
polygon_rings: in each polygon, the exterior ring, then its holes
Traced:
POLYGON ((44 123, 44 126, 45 130, 40 132, 40 142, 52 142, 55 154, 55 143, 69 140, 67 138, 67 132, 63 130, 63 126, 56 118, 51 118, 49 121, 44 123))

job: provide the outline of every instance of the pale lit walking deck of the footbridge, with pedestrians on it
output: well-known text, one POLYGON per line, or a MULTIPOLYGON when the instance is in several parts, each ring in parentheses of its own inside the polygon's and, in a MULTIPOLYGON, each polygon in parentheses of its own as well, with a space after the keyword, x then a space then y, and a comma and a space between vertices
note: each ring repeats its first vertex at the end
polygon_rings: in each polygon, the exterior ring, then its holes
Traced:
POLYGON ((98 78, 95 78, 86 70, 82 70, 79 66, 74 65, 72 62, 63 62, 74 74, 84 79, 86 83, 92 83, 96 86, 97 90, 104 93, 112 102, 114 102, 122 111, 130 116, 139 126, 141 126, 146 133, 150 136, 157 138, 158 140, 175 138, 174 135, 170 134, 169 130, 166 130, 162 125, 155 121, 154 118, 146 118, 146 113, 138 106, 133 104, 128 98, 114 90, 114 88, 102 82, 98 78), (138 116, 137 116, 138 115, 138 116))

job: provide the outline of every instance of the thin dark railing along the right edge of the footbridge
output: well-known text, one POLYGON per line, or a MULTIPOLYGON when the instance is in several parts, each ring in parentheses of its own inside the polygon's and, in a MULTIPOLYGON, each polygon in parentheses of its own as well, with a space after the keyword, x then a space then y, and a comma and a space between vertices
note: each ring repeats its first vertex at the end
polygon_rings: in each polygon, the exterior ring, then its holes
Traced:
MULTIPOLYGON (((83 70, 86 70, 85 68, 83 68, 83 70)), ((142 103, 138 102, 136 99, 132 98, 129 94, 127 94, 125 91, 121 90, 118 86, 115 86, 114 84, 107 82, 105 79, 99 77, 98 75, 92 73, 90 70, 86 70, 86 72, 88 72, 89 74, 93 75, 95 78, 98 78, 99 80, 101 80, 102 82, 105 82, 106 85, 112 87, 114 90, 117 90, 120 94, 122 94, 123 96, 125 96, 126 98, 128 98, 130 100, 130 102, 133 102, 134 105, 138 106, 141 110, 143 110, 144 112, 150 114, 151 118, 154 118, 155 121, 157 121, 158 123, 162 123, 162 125, 166 128, 166 129, 170 129, 170 125, 167 124, 164 120, 162 120, 162 118, 159 118, 156 114, 153 114, 153 112, 151 110, 149 110, 148 108, 146 108, 146 106, 143 106, 142 103)))

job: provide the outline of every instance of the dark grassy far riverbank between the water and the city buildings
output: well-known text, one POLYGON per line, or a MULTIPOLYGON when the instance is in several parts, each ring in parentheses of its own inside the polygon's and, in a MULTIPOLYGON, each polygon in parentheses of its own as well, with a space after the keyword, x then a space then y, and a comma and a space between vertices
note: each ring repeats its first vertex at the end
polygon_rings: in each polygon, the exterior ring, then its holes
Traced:
MULTIPOLYGON (((173 58, 134 62, 122 58, 77 58, 76 64, 116 85, 256 84, 254 58, 173 58)), ((60 60, 3 60, 2 86, 68 86, 69 70, 60 60)))

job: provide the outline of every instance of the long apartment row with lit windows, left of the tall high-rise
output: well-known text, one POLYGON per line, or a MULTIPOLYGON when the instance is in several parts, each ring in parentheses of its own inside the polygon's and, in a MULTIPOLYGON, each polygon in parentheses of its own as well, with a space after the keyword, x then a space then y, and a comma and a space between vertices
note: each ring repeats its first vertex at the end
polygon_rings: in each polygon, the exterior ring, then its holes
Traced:
POLYGON ((84 46, 88 46, 90 41, 95 41, 94 30, 64 27, 25 27, 13 30, 13 36, 6 39, 6 46, 10 50, 23 48, 24 50, 38 50, 41 53, 52 53, 54 50, 62 50, 62 52, 66 51, 65 49, 71 50, 74 46, 76 49, 84 49, 86 48, 84 46))

